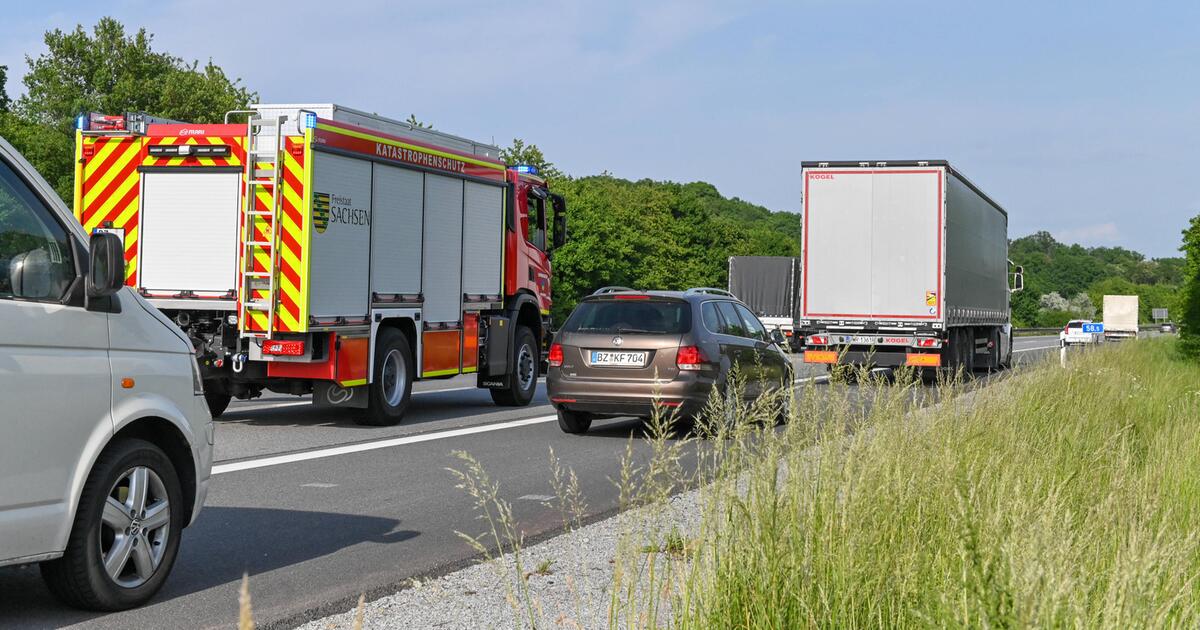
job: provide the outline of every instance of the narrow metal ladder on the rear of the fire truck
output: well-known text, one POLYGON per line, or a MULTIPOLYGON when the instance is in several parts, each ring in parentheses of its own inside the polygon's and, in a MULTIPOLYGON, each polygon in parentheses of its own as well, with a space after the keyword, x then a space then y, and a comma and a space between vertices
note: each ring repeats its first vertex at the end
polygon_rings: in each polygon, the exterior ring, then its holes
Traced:
POLYGON ((242 338, 271 338, 278 307, 280 208, 283 202, 283 133, 287 116, 252 115, 246 130, 246 160, 241 234, 238 245, 238 330, 242 338), (266 209, 258 204, 259 193, 270 196, 266 209), (264 224, 265 234, 254 229, 264 224), (266 238, 266 240, 263 240, 266 238), (257 265, 262 254, 266 269, 257 265), (257 316, 257 317, 256 317, 257 316), (266 328, 256 325, 265 316, 266 328))

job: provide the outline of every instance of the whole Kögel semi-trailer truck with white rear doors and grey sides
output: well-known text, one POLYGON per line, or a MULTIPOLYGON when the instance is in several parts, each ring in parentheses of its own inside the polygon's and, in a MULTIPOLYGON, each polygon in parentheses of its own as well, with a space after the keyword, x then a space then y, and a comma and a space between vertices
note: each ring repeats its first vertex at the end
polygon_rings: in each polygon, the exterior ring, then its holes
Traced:
POLYGON ((802 178, 806 362, 1010 362, 1022 281, 1000 204, 946 161, 804 162, 802 178))

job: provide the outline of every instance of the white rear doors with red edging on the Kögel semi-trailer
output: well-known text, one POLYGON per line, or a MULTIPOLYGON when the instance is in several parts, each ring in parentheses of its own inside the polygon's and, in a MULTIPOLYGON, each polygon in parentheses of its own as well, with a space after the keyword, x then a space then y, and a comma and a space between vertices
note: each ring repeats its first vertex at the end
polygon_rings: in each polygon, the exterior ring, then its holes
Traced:
POLYGON ((806 319, 942 317, 942 168, 806 168, 806 319))

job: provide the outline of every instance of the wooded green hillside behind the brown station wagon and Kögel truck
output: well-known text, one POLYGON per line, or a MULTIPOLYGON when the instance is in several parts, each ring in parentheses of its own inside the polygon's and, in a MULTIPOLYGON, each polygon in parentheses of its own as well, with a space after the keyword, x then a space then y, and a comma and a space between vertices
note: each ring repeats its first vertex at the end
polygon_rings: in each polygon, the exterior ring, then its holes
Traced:
MULTIPOLYGON (((556 178, 566 197, 570 238, 554 253, 554 319, 599 287, 640 289, 725 287, 731 256, 799 256, 800 215, 724 197, 702 181, 630 181, 610 175, 556 178)), ((1038 232, 1009 242, 1025 268, 1013 296, 1019 326, 1061 326, 1098 318, 1105 294, 1141 296, 1151 308, 1177 310, 1182 258, 1148 259, 1123 247, 1082 247, 1038 232)))

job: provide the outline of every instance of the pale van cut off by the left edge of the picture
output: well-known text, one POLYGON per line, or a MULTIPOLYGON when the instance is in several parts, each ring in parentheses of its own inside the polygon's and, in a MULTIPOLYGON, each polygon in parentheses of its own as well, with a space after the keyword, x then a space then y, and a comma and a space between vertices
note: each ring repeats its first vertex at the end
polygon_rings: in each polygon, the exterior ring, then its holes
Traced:
POLYGON ((106 611, 162 587, 212 467, 192 346, 124 280, 0 138, 0 565, 106 611))

